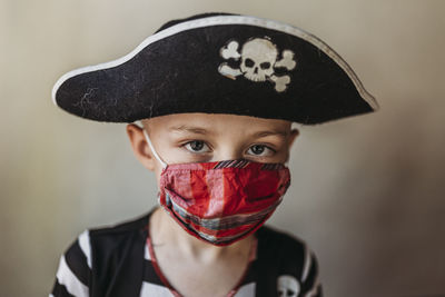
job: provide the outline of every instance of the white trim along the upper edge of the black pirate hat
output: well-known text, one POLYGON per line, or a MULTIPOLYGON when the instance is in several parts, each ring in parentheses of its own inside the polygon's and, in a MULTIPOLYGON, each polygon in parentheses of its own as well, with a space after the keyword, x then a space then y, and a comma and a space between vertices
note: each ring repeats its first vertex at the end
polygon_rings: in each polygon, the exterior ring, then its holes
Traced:
POLYGON ((96 66, 88 66, 83 68, 79 68, 72 71, 69 71, 65 73, 59 80, 56 82, 56 85, 52 88, 52 102, 57 106, 56 102, 56 92, 59 89, 59 87, 68 79, 86 73, 86 72, 92 72, 97 70, 102 70, 107 68, 112 68, 117 67, 119 65, 122 65, 134 58, 137 53, 139 53, 142 49, 145 49, 147 46, 150 43, 154 43, 158 40, 161 40, 164 38, 170 37, 172 34, 196 29, 196 28, 202 28, 202 27, 210 27, 210 26, 222 26, 222 24, 249 24, 249 26, 256 26, 256 27, 261 27, 266 29, 271 29, 280 32, 285 32, 288 34, 296 36, 298 38, 301 38, 306 40, 307 42, 314 44, 318 49, 320 49, 323 52, 325 52, 328 57, 330 57, 334 61, 337 62, 338 66, 342 67, 342 69, 347 73, 347 76, 353 80, 356 89, 358 90, 359 95, 362 98, 374 109, 378 109, 378 103, 374 99, 374 97, 365 90, 363 87, 360 80, 358 79, 357 75, 354 72, 354 70, 349 67, 349 65, 338 55, 336 53, 328 44, 326 44, 324 41, 318 39, 317 37, 306 32, 303 29, 299 29, 297 27, 278 22, 275 20, 268 20, 268 19, 263 19, 263 18, 257 18, 257 17, 250 17, 250 16, 218 16, 218 17, 208 17, 208 18, 201 18, 201 19, 196 19, 196 20, 190 20, 190 21, 185 21, 180 22, 178 24, 171 26, 165 30, 161 30, 147 39, 145 39, 136 49, 134 49, 128 55, 105 63, 96 65, 96 66))

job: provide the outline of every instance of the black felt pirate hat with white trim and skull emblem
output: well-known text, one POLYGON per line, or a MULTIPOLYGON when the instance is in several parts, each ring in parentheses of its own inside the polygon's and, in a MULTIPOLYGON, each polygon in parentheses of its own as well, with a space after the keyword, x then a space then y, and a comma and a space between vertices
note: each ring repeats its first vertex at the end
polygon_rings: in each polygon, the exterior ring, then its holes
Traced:
POLYGON ((127 56, 66 73, 52 98, 70 113, 109 122, 206 112, 320 123, 377 109, 315 36, 226 13, 170 21, 127 56))

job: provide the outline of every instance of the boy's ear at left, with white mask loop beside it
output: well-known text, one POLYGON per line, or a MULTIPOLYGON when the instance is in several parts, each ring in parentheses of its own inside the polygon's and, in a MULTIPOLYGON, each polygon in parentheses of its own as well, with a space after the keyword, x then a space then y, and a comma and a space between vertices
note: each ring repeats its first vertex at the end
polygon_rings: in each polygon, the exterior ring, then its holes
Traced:
POLYGON ((155 158, 144 137, 144 130, 135 123, 127 125, 127 135, 130 139, 132 152, 140 164, 150 171, 155 171, 155 158))

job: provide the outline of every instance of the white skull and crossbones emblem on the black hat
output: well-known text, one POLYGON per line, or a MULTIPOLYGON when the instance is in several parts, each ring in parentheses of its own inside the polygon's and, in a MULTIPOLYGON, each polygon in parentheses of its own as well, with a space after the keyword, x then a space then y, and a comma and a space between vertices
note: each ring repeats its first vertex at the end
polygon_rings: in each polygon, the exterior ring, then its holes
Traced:
POLYGON ((281 59, 278 60, 277 46, 267 37, 251 38, 243 44, 240 52, 238 49, 239 42, 236 40, 230 40, 220 49, 219 53, 225 60, 240 60, 240 65, 239 68, 233 68, 228 62, 222 62, 218 68, 219 73, 231 79, 244 76, 255 82, 267 80, 275 83, 277 92, 283 92, 287 89, 290 77, 287 75, 278 76, 275 73, 275 69, 286 68, 290 71, 296 67, 295 53, 291 50, 284 50, 281 59))

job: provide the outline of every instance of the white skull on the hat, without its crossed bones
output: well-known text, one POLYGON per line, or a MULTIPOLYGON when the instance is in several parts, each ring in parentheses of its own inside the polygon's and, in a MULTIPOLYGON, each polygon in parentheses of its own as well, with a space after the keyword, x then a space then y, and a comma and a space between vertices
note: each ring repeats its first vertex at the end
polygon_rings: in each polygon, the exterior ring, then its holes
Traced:
POLYGON ((255 38, 244 43, 240 70, 245 78, 265 81, 274 73, 277 47, 267 39, 255 38))

